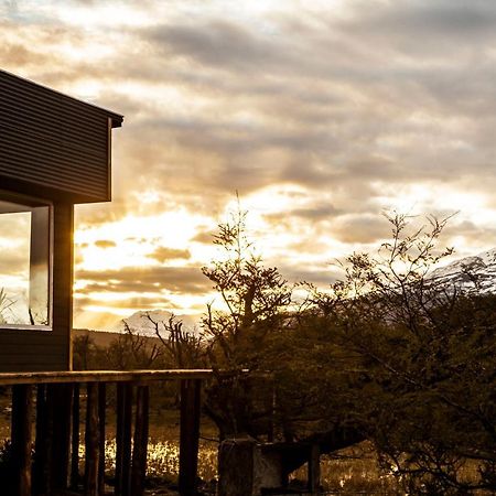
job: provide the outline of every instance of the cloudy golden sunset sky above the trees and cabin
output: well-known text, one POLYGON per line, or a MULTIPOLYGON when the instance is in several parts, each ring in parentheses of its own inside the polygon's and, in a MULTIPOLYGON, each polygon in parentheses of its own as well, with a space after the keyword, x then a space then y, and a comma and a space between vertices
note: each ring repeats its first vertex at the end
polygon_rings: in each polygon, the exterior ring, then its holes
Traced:
POLYGON ((75 326, 201 314, 236 191, 290 281, 328 283, 385 211, 496 246, 492 0, 0 0, 0 62, 125 115, 112 203, 76 207, 75 326))

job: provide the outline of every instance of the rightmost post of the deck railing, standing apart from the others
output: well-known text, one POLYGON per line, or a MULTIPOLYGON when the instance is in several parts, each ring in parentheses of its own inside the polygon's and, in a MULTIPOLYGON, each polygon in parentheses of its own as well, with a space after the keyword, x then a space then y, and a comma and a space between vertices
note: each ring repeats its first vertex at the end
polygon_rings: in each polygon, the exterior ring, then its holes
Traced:
POLYGON ((200 408, 202 381, 181 381, 181 441, 179 489, 181 496, 194 496, 197 492, 200 408))

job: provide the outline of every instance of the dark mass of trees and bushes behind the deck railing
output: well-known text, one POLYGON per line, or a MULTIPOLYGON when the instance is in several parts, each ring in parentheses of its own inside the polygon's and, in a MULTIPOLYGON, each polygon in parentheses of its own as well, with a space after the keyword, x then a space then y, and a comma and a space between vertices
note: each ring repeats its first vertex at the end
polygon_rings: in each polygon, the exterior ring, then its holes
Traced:
MULTIPOLYGON (((409 494, 496 492, 496 296, 475 278, 462 291, 430 277, 451 255, 438 247, 446 220, 389 222, 391 240, 349 256, 322 292, 266 267, 238 213, 203 269, 224 311, 207 306, 197 332, 148 315, 152 339, 129 326, 106 348, 80 337, 75 365, 249 369, 206 391, 220 439, 312 441, 321 453, 367 440, 409 494)), ((296 452, 288 472, 303 462, 296 452)))

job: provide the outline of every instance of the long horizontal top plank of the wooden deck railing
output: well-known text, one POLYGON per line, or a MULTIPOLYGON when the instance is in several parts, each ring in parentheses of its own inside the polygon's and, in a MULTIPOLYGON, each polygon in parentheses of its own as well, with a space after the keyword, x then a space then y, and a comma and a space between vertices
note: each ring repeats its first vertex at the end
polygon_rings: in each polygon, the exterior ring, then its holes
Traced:
MULTIPOLYGON (((247 373, 248 370, 246 370, 247 373)), ((222 375, 222 371, 215 373, 222 375)), ((230 371, 224 373, 226 376, 230 371)), ((14 384, 56 384, 56 382, 144 382, 153 380, 208 379, 214 375, 211 369, 170 369, 170 370, 74 370, 0 374, 0 385, 14 384)))

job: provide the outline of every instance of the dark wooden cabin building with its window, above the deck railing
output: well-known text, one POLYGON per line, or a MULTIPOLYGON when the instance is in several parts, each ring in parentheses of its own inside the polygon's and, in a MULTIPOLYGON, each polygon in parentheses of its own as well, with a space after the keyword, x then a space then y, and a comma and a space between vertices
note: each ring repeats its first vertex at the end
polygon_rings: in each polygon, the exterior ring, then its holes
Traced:
POLYGON ((0 371, 71 370, 74 205, 110 201, 121 123, 0 71, 0 371))

